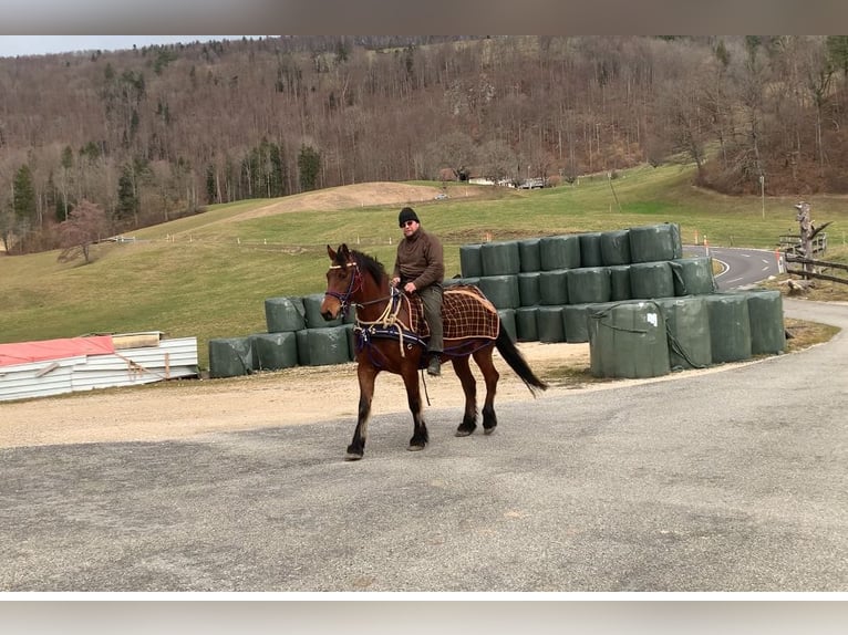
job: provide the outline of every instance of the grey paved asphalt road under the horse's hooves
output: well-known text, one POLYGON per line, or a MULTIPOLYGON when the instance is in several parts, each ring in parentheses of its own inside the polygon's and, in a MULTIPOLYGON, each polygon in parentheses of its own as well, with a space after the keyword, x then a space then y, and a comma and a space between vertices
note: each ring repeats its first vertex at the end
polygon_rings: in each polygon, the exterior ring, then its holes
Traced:
POLYGON ((353 464, 349 419, 0 450, 0 590, 844 592, 846 358, 433 407, 423 452, 380 416, 353 464))

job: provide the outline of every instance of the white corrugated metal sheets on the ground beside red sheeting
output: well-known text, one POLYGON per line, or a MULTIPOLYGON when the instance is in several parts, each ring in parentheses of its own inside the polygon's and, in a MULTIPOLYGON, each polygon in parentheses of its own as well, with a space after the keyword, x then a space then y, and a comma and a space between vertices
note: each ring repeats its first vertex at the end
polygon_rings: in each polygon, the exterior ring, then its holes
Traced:
POLYGON ((112 354, 2 366, 0 400, 151 384, 197 374, 197 339, 176 337, 112 354))

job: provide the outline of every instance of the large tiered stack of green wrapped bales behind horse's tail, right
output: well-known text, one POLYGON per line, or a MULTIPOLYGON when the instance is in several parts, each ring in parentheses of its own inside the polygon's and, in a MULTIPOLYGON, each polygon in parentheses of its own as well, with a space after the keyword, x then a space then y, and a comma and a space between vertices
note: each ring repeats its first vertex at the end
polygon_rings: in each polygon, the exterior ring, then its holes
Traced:
POLYGON ((465 244, 519 342, 589 342, 599 377, 652 377, 784 350, 777 291, 716 293, 712 259, 683 258, 673 223, 465 244))

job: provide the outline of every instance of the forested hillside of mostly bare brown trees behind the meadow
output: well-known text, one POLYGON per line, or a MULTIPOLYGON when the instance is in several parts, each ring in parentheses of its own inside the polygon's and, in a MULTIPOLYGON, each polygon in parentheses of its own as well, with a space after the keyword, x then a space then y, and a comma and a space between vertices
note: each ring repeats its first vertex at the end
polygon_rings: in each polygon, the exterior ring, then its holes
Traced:
POLYGON ((557 185, 672 157, 723 192, 845 192, 847 74, 848 37, 798 35, 281 37, 0 59, 0 238, 25 252, 73 240, 69 218, 111 235, 338 185, 557 185))

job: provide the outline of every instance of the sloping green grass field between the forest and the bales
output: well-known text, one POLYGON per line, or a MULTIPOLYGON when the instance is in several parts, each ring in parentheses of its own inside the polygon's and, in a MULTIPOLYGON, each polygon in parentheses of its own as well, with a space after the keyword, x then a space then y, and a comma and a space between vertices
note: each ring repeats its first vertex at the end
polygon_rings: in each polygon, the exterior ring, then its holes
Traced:
MULTIPOLYGON (((779 235, 797 233, 793 205, 803 197, 724 197, 692 187, 692 167, 670 165, 544 190, 453 185, 448 199, 414 207, 444 242, 448 277, 459 273, 459 247, 486 238, 676 222, 684 243, 774 249, 779 235)), ((213 206, 134 232, 134 242, 95 246, 86 266, 60 263, 56 252, 0 256, 0 342, 163 331, 197 336, 207 368, 210 339, 265 332, 265 299, 323 292, 328 243, 348 242, 391 267, 402 204, 311 209, 317 194, 298 195, 283 214, 251 214, 276 202, 267 199, 213 206)), ((833 221, 828 259, 845 261, 846 200, 807 200, 816 222, 833 221)))

